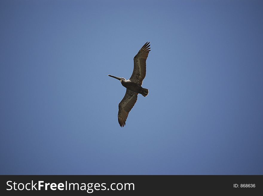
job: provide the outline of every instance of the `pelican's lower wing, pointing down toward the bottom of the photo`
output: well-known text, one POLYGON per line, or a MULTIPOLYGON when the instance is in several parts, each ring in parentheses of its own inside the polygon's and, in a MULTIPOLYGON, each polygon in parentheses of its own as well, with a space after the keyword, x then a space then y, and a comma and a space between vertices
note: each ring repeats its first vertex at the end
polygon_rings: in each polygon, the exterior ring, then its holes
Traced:
POLYGON ((125 121, 128 118, 129 112, 137 101, 137 95, 138 93, 127 89, 123 99, 120 101, 118 121, 121 127, 125 126, 125 121))

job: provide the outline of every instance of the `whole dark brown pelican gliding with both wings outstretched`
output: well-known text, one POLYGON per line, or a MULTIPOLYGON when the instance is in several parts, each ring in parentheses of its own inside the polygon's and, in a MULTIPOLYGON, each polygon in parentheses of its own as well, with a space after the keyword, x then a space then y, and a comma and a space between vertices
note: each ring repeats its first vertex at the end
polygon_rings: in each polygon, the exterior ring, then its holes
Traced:
POLYGON ((142 94, 146 97, 149 93, 148 89, 142 87, 143 79, 146 75, 146 59, 150 50, 150 42, 146 42, 139 52, 133 58, 134 67, 132 76, 129 80, 108 75, 112 78, 120 80, 120 83, 126 88, 126 93, 119 103, 118 121, 121 127, 125 126, 129 112, 132 110, 137 101, 137 95, 142 94))

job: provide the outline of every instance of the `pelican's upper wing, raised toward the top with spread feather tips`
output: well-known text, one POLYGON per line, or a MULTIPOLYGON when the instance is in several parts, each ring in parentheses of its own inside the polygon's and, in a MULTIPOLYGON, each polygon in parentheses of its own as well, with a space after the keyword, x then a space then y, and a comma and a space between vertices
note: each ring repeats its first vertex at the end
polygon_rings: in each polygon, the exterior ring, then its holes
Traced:
POLYGON ((146 42, 133 58, 134 68, 130 80, 142 85, 146 76, 146 59, 150 50, 150 42, 146 42))

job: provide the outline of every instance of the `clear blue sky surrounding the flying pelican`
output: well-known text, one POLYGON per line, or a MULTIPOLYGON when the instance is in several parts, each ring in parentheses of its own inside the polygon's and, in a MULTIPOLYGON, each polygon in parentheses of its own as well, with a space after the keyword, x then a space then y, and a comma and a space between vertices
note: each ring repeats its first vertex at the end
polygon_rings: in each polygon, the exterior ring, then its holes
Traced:
POLYGON ((263 174, 262 1, 0 1, 0 174, 263 174), (133 57, 151 42, 121 128, 133 57))

